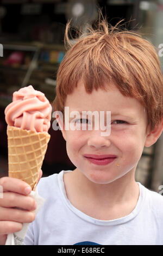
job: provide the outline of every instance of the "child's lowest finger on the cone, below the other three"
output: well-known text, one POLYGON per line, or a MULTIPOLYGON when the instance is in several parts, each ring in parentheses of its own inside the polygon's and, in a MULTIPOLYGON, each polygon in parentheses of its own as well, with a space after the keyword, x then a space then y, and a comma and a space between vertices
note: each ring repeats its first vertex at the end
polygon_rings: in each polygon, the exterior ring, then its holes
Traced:
POLYGON ((1 221, 0 222, 0 234, 11 234, 18 232, 22 229, 23 224, 20 222, 13 221, 1 221))

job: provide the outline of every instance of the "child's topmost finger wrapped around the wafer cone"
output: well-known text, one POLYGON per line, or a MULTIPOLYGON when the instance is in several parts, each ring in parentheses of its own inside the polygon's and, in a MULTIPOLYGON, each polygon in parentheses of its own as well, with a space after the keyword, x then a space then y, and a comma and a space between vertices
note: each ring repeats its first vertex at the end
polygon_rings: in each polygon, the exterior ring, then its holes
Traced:
POLYGON ((0 185, 3 187, 3 192, 12 191, 20 194, 29 194, 32 188, 23 180, 3 177, 0 179, 0 185))

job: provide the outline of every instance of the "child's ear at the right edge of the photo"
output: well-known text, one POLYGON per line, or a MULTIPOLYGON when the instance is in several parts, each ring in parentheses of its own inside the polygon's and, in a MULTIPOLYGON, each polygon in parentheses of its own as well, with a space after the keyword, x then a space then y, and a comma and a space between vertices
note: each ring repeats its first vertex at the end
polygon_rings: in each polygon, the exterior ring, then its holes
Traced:
POLYGON ((147 138, 145 142, 145 147, 151 147, 161 136, 161 132, 163 130, 163 118, 159 125, 155 126, 155 128, 151 131, 147 129, 147 138))

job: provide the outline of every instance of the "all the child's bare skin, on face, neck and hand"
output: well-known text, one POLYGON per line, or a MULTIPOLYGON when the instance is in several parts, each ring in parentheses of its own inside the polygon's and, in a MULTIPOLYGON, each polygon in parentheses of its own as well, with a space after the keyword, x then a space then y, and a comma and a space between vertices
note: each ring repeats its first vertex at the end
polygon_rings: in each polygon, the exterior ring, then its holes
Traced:
MULTIPOLYGON (((126 216, 135 208, 139 198, 139 187, 134 179, 137 162, 144 145, 154 144, 163 130, 162 121, 150 131, 146 113, 139 102, 121 95, 114 84, 108 87, 107 93, 98 90, 89 95, 79 81, 74 93, 67 96, 65 106, 69 106, 70 111, 120 112, 112 118, 110 136, 102 137, 101 131, 96 130, 66 131, 58 118, 67 154, 77 166, 73 172, 64 175, 67 198, 76 208, 100 220, 126 216), (116 120, 124 119, 122 112, 130 115, 126 120, 129 124, 117 124, 116 120), (97 167, 84 159, 84 154, 115 154, 117 159, 108 166, 97 167)), ((41 176, 40 170, 39 180, 41 176)), ((34 199, 28 196, 31 188, 26 182, 3 177, 0 185, 4 192, 0 198, 0 245, 4 245, 7 234, 21 230, 23 222, 34 221, 36 206, 34 199)))

